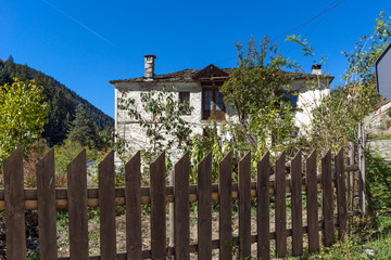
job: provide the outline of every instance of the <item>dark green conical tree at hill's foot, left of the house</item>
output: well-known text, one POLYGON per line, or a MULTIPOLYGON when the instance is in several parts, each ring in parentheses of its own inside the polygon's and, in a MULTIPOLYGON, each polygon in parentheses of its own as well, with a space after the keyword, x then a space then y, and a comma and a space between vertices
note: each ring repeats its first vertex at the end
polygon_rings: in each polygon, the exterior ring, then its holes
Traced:
POLYGON ((72 123, 70 140, 78 142, 89 148, 101 147, 101 140, 97 123, 87 115, 83 105, 77 107, 76 118, 72 123))

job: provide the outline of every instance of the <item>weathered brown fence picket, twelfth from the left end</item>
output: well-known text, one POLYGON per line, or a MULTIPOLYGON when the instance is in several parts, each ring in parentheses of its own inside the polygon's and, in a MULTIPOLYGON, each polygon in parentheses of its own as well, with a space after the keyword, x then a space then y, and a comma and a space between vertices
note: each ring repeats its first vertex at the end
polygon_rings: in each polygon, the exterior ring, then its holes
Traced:
POLYGON ((282 152, 276 161, 276 251, 278 258, 287 256, 287 203, 286 203, 286 155, 282 152))

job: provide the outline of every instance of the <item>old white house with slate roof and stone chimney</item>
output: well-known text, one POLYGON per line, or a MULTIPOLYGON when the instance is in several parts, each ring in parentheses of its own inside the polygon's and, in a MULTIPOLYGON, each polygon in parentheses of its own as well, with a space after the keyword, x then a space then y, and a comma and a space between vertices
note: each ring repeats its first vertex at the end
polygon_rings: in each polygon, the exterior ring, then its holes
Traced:
MULTIPOLYGON (((137 151, 148 145, 142 129, 136 121, 129 120, 126 113, 118 109, 117 99, 125 92, 136 103, 140 101, 140 93, 160 90, 162 87, 174 88, 178 99, 188 101, 194 109, 185 119, 192 125, 192 132, 203 134, 203 129, 210 125, 207 120, 214 117, 217 122, 234 117, 234 112, 224 105, 223 94, 218 87, 229 77, 231 68, 219 68, 213 64, 203 69, 184 69, 171 74, 154 75, 155 55, 144 55, 144 76, 140 78, 111 80, 115 87, 115 129, 121 138, 130 143, 137 151)), ((293 74, 294 80, 287 89, 286 95, 297 106, 295 123, 304 130, 311 121, 311 109, 316 101, 329 94, 329 83, 333 77, 321 77, 320 66, 313 66, 312 74, 293 74), (314 83, 315 82, 315 83, 314 83), (308 86, 310 84, 310 86, 308 86)))

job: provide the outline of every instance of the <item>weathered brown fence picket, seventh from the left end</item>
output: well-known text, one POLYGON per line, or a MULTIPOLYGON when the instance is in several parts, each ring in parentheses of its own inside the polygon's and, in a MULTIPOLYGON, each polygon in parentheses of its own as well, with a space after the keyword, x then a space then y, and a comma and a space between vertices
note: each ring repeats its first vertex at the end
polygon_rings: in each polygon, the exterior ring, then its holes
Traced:
POLYGON ((175 259, 190 259, 189 227, 189 153, 175 165, 174 172, 174 245, 175 259))

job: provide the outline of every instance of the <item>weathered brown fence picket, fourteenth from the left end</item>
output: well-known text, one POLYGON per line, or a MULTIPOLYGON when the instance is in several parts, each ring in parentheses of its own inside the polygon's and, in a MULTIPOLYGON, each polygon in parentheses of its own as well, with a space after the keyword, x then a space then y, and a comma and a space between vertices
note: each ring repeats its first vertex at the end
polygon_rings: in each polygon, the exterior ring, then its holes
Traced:
POLYGON ((306 202, 308 226, 308 251, 319 250, 318 202, 316 186, 316 150, 314 150, 305 164, 306 173, 306 202))

